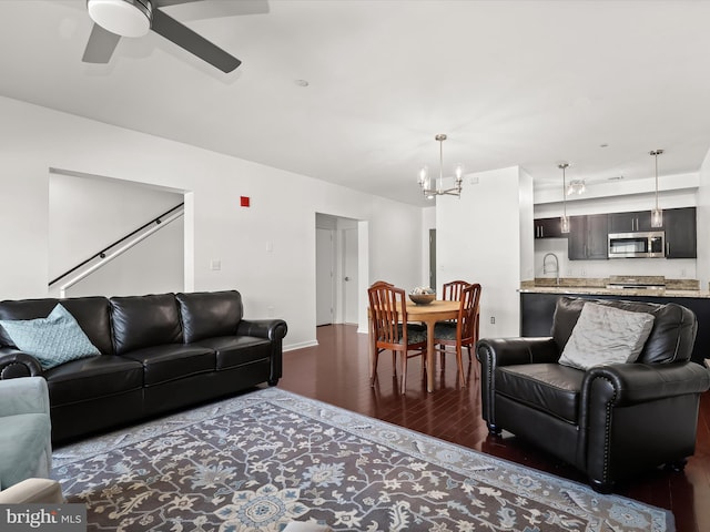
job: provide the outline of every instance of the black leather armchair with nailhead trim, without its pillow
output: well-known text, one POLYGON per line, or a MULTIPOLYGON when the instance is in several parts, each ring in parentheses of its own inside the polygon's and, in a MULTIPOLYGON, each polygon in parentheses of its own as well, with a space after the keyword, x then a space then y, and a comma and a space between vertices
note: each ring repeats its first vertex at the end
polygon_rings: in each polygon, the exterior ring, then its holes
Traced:
POLYGON ((594 300, 655 316, 633 364, 587 371, 558 364, 582 306, 560 297, 551 336, 481 339, 483 417, 587 473, 609 492, 617 480, 667 464, 682 470, 696 447, 700 393, 710 371, 691 362, 694 314, 679 305, 594 300))

